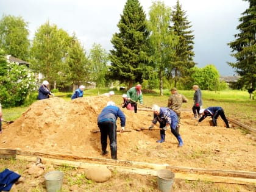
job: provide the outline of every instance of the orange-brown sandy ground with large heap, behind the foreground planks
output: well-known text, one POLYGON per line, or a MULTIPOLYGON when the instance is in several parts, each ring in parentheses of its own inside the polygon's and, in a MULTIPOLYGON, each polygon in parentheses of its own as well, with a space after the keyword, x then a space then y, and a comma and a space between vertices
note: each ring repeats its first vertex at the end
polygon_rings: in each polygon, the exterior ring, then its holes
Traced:
MULTIPOLYGON (((91 130, 98 130, 97 116, 107 101, 110 99, 104 96, 37 101, 14 123, 4 126, 0 148, 102 158, 100 133, 91 130)), ((256 171, 255 141, 239 129, 227 129, 221 118, 218 127, 210 126, 210 118, 195 126, 191 112, 182 112, 180 135, 184 146, 177 148, 171 130, 166 131, 166 141, 162 144, 155 142, 160 138, 159 130, 136 130, 149 127, 151 111, 121 110, 126 115, 126 130, 131 132, 118 132, 119 160, 256 171)), ((117 125, 119 129, 119 121, 117 125)), ((109 146, 107 150, 110 151, 109 146)))

